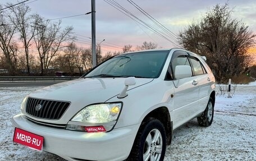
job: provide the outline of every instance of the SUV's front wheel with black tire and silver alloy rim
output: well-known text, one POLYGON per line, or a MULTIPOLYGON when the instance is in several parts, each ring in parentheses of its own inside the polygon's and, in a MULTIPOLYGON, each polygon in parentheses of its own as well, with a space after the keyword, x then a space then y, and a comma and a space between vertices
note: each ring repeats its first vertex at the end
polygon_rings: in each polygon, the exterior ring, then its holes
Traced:
POLYGON ((166 131, 154 118, 141 123, 127 161, 163 161, 166 152, 166 131))

